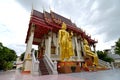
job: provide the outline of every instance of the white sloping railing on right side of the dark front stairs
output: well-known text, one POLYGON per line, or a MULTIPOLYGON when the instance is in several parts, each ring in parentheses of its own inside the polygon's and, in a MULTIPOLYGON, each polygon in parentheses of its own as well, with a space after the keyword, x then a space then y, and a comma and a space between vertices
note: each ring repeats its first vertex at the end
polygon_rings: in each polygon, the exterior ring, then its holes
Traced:
POLYGON ((49 65, 52 74, 58 74, 57 72, 57 62, 54 61, 52 62, 52 60, 50 59, 50 57, 47 56, 47 54, 44 55, 44 59, 46 60, 47 64, 49 65))

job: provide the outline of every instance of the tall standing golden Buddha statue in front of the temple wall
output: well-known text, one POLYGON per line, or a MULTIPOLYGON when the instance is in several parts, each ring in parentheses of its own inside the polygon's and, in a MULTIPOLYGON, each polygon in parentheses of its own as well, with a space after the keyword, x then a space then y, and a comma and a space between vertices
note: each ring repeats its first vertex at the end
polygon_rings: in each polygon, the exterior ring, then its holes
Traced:
POLYGON ((69 35, 69 33, 66 31, 67 26, 63 22, 62 23, 62 28, 59 30, 59 35, 58 35, 58 43, 60 46, 60 58, 61 61, 64 61, 64 59, 69 60, 69 58, 73 55, 73 51, 71 52, 72 49, 72 34, 69 35))

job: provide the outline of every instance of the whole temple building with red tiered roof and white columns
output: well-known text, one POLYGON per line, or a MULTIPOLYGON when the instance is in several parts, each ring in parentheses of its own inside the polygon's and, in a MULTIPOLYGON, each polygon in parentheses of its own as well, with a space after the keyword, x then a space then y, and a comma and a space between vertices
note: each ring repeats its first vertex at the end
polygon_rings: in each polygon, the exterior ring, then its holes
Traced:
POLYGON ((40 75, 71 73, 93 70, 89 66, 99 65, 95 51, 97 41, 91 39, 91 36, 77 27, 70 19, 53 11, 32 10, 25 42, 27 46, 24 56, 24 72, 40 75), (60 33, 60 30, 63 29, 65 29, 63 33, 66 32, 68 36, 72 35, 71 43, 68 43, 70 41, 63 37, 66 40, 65 46, 69 44, 68 47, 65 47, 64 41, 59 39, 65 35, 60 33), (36 57, 32 45, 38 46, 36 57), (71 47, 69 48, 69 46, 71 47), (68 55, 72 52, 70 50, 73 51, 71 56, 68 55), (61 54, 63 54, 62 57, 61 54), (66 55, 68 57, 65 57, 66 55))

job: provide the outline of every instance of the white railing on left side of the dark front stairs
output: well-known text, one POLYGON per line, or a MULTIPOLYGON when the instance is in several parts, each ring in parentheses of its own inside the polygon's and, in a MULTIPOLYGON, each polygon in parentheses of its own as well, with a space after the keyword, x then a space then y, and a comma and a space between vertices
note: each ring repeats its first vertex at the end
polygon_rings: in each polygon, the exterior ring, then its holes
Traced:
POLYGON ((35 58, 35 50, 32 50, 32 75, 39 75, 39 61, 35 58))

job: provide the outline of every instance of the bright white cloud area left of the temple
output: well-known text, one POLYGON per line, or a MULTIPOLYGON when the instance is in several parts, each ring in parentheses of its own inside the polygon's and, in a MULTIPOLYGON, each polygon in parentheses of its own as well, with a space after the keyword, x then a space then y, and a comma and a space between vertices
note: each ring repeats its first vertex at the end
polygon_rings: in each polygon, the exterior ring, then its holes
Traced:
POLYGON ((15 44, 25 45, 30 13, 14 0, 0 2, 0 11, 0 41, 20 54, 21 49, 15 44))

